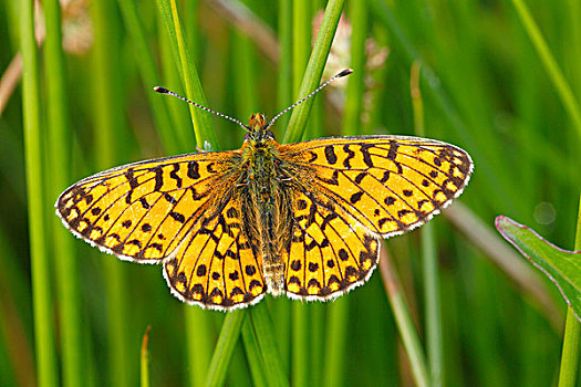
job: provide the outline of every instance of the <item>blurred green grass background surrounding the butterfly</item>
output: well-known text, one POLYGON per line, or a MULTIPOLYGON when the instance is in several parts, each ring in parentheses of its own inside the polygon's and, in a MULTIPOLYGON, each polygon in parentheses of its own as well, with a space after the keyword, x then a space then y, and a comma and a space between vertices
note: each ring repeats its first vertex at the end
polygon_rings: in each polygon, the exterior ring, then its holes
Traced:
MULTIPOLYGON (((60 20, 58 1, 43 1, 32 23, 31 2, 0 1, 0 385, 143 384, 147 326, 153 386, 205 384, 207 375, 230 386, 409 386, 422 372, 433 385, 556 385, 564 302, 507 249, 494 219, 507 215, 573 247, 581 170, 578 1, 527 1, 573 90, 569 100, 527 33, 520 1, 344 3, 322 79, 345 67, 355 72, 317 97, 303 138, 423 130, 463 147, 476 164, 459 203, 428 231, 385 243, 424 370, 404 351, 378 270, 333 303, 267 296, 231 317, 181 304, 160 266, 121 262, 61 226, 53 203, 74 181, 196 150, 187 104, 153 86, 242 122, 253 112, 272 117, 297 101, 328 4, 183 0, 172 14, 172 3, 63 0, 60 20), (186 67, 175 43, 176 15, 186 67), (421 64, 421 100, 412 98, 413 63, 421 64), (414 109, 419 102, 423 115, 414 109), (222 332, 234 353, 216 344, 222 324, 234 327, 230 336, 222 332), (222 351, 231 359, 218 362, 216 372, 211 357, 222 351)), ((208 148, 205 139, 212 149, 241 145, 235 124, 196 114, 199 147, 208 148)), ((273 129, 281 142, 289 119, 273 129)))

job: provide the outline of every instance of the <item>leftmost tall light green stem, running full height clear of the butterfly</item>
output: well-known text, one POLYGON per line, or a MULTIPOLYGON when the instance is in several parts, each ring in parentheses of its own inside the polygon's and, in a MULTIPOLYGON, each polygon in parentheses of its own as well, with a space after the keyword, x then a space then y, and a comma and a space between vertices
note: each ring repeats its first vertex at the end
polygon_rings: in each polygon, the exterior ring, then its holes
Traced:
POLYGON ((20 50, 22 53, 22 106, 24 163, 29 210, 32 308, 37 352, 38 385, 58 385, 56 352, 52 331, 51 286, 44 220, 42 146, 38 52, 34 41, 34 1, 20 2, 20 50))

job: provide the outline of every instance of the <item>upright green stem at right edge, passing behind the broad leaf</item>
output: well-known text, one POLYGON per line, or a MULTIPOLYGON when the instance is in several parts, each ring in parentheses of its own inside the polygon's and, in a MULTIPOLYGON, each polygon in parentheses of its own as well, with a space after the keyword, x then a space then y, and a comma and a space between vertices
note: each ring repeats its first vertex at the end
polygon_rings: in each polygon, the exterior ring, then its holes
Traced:
MULTIPOLYGON (((577 230, 574 250, 581 250, 581 196, 577 213, 577 230)), ((561 369, 559 372, 559 387, 573 387, 577 385, 579 369, 579 352, 581 348, 581 323, 577 320, 573 308, 567 308, 564 323, 563 349, 561 354, 561 369)))

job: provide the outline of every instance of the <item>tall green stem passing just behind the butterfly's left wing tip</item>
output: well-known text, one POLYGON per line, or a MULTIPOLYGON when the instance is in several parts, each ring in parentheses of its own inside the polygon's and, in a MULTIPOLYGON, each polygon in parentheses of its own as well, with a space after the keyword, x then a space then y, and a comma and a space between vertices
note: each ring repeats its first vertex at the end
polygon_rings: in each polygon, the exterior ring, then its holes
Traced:
MULTIPOLYGON (((49 181, 51 198, 55 198, 71 181, 71 135, 69 128, 69 98, 64 83, 64 65, 61 33, 61 7, 59 0, 46 0, 44 19, 46 38, 44 41, 45 74, 49 113, 49 181)), ((62 227, 58 217, 52 217, 54 261, 59 291, 59 312, 61 316, 63 386, 84 385, 82 377, 81 318, 79 294, 79 272, 73 249, 73 238, 62 227)))

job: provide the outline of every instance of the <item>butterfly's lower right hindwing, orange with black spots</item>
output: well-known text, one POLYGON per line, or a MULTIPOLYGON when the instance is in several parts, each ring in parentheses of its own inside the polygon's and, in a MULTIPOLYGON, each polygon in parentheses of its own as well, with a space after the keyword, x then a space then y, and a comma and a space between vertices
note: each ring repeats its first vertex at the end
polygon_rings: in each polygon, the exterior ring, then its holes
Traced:
POLYGON ((291 243, 283 254, 287 294, 330 300, 363 284, 378 261, 378 241, 322 195, 294 200, 291 243))

